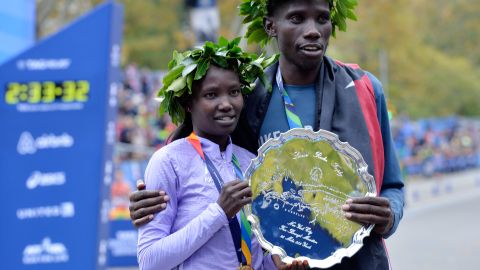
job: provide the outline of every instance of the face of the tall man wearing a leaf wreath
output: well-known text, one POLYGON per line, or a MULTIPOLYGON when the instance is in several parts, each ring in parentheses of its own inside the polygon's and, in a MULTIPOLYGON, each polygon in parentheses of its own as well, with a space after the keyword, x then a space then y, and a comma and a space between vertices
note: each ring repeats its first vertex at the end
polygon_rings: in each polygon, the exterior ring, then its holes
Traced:
POLYGON ((276 37, 288 64, 307 70, 318 67, 332 33, 326 0, 295 0, 278 7, 265 28, 276 37))

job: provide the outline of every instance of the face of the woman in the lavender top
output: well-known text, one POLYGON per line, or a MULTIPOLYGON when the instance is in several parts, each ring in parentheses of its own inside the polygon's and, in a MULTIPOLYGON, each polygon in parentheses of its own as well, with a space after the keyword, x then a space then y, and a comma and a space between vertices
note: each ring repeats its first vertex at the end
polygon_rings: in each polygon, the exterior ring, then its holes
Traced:
POLYGON ((211 65, 205 77, 194 82, 189 104, 195 133, 225 146, 243 108, 237 73, 211 65))

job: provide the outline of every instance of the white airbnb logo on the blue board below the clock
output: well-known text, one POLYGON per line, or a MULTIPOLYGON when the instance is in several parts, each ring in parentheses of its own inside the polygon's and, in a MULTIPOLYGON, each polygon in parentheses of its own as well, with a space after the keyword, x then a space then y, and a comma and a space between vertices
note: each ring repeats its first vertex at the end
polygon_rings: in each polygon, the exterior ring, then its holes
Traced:
POLYGON ((20 155, 32 155, 43 149, 70 148, 73 146, 73 143, 73 137, 65 132, 59 136, 42 134, 42 136, 35 139, 30 132, 24 131, 18 139, 17 152, 20 155))

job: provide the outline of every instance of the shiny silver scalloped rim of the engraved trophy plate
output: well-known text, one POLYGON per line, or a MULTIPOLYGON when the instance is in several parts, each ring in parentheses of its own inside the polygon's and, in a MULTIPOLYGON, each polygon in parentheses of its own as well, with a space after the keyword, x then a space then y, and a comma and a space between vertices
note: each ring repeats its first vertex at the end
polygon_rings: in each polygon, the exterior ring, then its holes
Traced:
MULTIPOLYGON (((327 141, 330 146, 332 146, 335 150, 341 151, 342 154, 350 157, 356 163, 356 165, 358 166, 357 175, 366 185, 368 190, 365 194, 365 197, 377 196, 375 180, 373 176, 368 173, 368 165, 363 159, 360 152, 354 147, 352 147, 349 143, 340 141, 340 139, 335 133, 322 129, 314 132, 312 129, 309 128, 293 128, 287 132, 281 133, 280 136, 277 138, 271 138, 266 141, 258 149, 258 156, 250 161, 250 164, 245 171, 245 180, 248 180, 248 184, 250 186, 252 185, 251 175, 253 174, 255 169, 258 168, 258 166, 263 162, 263 160, 265 159, 265 154, 270 149, 278 148, 282 145, 283 142, 290 140, 291 138, 307 139, 311 141, 327 141)), ((260 229, 259 219, 256 215, 252 213, 251 204, 245 206, 245 214, 247 215, 248 221, 251 223, 252 232, 255 234, 258 242, 264 249, 269 251, 271 254, 279 255, 282 261, 285 263, 291 263, 294 260, 307 260, 310 267, 322 269, 332 267, 333 265, 340 263, 343 258, 351 258, 354 254, 356 254, 357 251, 360 250, 360 248, 363 246, 363 239, 370 235, 374 227, 373 224, 370 224, 368 226, 362 226, 359 230, 355 232, 355 234, 353 235, 353 240, 347 248, 339 248, 335 250, 332 255, 325 259, 312 259, 304 256, 293 258, 288 256, 286 251, 283 250, 281 247, 275 246, 267 239, 265 239, 260 229)))

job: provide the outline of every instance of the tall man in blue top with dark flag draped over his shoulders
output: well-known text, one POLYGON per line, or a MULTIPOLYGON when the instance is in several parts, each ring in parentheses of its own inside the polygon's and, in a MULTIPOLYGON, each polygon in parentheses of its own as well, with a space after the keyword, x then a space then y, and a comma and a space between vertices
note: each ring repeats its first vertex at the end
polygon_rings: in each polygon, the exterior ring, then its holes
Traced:
MULTIPOLYGON (((375 227, 352 258, 331 269, 389 269, 383 238, 395 232, 402 218, 404 195, 381 84, 358 67, 325 56, 332 34, 330 1, 266 2, 264 28, 280 51, 279 63, 266 71, 273 90, 257 84, 232 140, 255 152, 268 138, 298 125, 286 116, 288 96, 300 126, 332 131, 359 150, 375 176, 379 196, 349 199, 342 209, 346 218, 375 227)), ((168 201, 158 192, 137 192, 130 198, 137 225, 148 222, 168 201)))

